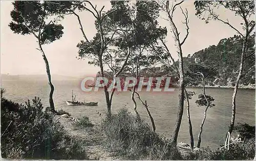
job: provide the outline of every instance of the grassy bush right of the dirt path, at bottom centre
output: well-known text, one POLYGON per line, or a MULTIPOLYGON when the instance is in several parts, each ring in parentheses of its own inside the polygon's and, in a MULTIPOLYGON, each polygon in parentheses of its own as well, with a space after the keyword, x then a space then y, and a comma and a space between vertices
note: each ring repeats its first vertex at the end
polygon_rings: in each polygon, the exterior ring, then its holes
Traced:
POLYGON ((103 119, 100 128, 108 149, 125 158, 180 158, 169 140, 161 138, 143 119, 138 119, 127 109, 121 109, 117 114, 103 119))

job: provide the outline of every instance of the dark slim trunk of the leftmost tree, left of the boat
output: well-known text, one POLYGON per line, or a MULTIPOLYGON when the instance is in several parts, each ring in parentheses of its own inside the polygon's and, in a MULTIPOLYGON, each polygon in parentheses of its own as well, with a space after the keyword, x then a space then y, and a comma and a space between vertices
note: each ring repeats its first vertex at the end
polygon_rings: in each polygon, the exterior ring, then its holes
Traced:
POLYGON ((48 83, 49 83, 50 88, 51 88, 50 95, 49 95, 50 109, 51 109, 52 112, 55 112, 54 102, 53 102, 53 98, 52 98, 52 97, 53 97, 53 92, 54 92, 54 86, 53 86, 52 80, 51 80, 50 67, 49 67, 49 63, 48 63, 48 60, 47 60, 47 58, 46 58, 45 52, 44 52, 44 50, 42 49, 40 40, 38 40, 38 44, 39 44, 40 51, 41 51, 41 53, 42 53, 42 58, 44 59, 45 64, 46 64, 46 72, 47 72, 47 75, 48 75, 48 83))

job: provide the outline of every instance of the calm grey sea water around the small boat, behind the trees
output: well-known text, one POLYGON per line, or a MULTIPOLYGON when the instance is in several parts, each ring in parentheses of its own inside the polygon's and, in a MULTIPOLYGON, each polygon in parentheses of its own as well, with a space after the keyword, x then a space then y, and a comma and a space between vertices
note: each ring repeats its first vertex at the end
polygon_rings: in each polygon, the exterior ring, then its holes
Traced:
MULTIPOLYGON (((106 112, 104 92, 102 90, 90 93, 82 92, 80 90, 79 81, 53 81, 53 84, 55 86, 54 103, 57 110, 63 109, 71 113, 74 117, 86 115, 96 123, 98 123, 102 117, 102 115, 99 116, 98 112, 106 112), (86 102, 98 101, 98 106, 68 106, 65 101, 72 99, 72 90, 74 90, 76 100, 84 100, 86 102)), ((48 95, 50 88, 46 81, 2 81, 2 87, 6 89, 4 96, 13 101, 24 103, 27 99, 39 96, 45 107, 49 104, 48 95)), ((195 91, 196 93, 202 92, 200 88, 188 88, 187 90, 195 91)), ((215 98, 214 103, 216 106, 207 111, 207 118, 202 133, 202 146, 218 148, 219 144, 224 143, 223 138, 231 117, 232 93, 233 89, 207 88, 206 94, 215 98)), ((140 92, 140 96, 143 100, 147 100, 149 109, 155 119, 156 131, 166 137, 170 137, 173 132, 178 109, 178 88, 175 88, 175 92, 142 91, 140 92)), ((237 96, 236 122, 246 122, 251 125, 255 124, 254 98, 254 90, 239 89, 237 96)), ((204 108, 199 108, 195 104, 196 99, 197 96, 194 96, 193 99, 190 100, 190 115, 195 143, 197 143, 197 136, 204 111, 204 108)), ((112 112, 116 113, 122 107, 126 107, 133 112, 131 92, 115 93, 113 97, 112 112)), ((185 108, 186 106, 184 106, 184 114, 178 142, 189 143, 185 108)), ((150 122, 146 110, 139 101, 138 112, 150 122)))

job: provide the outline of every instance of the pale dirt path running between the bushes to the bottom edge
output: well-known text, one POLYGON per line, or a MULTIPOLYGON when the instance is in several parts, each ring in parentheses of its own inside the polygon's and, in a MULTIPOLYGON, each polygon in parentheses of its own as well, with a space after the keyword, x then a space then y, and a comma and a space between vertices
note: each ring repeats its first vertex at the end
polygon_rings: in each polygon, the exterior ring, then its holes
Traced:
POLYGON ((86 143, 84 147, 89 159, 113 160, 113 154, 102 146, 102 136, 93 129, 82 129, 74 126, 75 121, 70 117, 57 116, 57 120, 64 126, 71 138, 79 139, 86 143))

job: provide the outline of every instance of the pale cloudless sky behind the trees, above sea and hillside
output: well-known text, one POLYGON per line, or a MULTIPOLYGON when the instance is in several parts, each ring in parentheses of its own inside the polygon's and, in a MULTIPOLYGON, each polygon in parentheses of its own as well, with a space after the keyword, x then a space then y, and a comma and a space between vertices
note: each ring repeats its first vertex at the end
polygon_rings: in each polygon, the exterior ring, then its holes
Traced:
MULTIPOLYGON (((105 6, 104 11, 110 9, 110 1, 91 1, 97 8, 105 6)), ((11 22, 10 12, 13 9, 11 1, 1 1, 1 73, 4 74, 46 74, 45 62, 41 53, 36 49, 37 42, 32 35, 14 34, 8 24, 11 22)), ((198 50, 217 45, 223 38, 236 34, 229 26, 220 21, 211 20, 208 24, 199 19, 195 13, 194 1, 185 1, 182 6, 187 8, 189 18, 189 35, 182 46, 183 56, 193 54, 198 50)), ((231 24, 240 28, 241 18, 225 9, 219 9, 218 13, 223 19, 228 19, 231 24)), ((89 12, 78 13, 83 24, 84 31, 89 39, 96 33, 94 17, 89 12)), ((164 17, 161 14, 161 17, 164 17)), ((174 21, 181 37, 185 34, 185 26, 182 24, 184 17, 179 8, 174 14, 174 21)), ((69 15, 60 22, 64 26, 64 34, 60 40, 43 45, 51 74, 82 76, 94 75, 99 67, 88 64, 88 60, 78 60, 78 48, 76 45, 83 40, 76 16, 69 15)), ((177 60, 172 33, 168 21, 159 19, 161 26, 166 26, 167 46, 177 60)))

